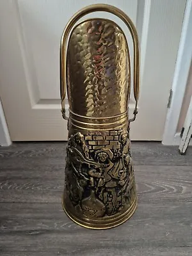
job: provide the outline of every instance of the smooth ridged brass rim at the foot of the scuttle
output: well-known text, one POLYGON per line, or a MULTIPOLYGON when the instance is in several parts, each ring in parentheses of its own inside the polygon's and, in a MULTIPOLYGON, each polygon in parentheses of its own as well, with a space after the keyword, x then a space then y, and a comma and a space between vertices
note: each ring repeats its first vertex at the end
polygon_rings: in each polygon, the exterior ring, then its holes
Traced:
POLYGON ((79 219, 77 216, 74 216, 70 211, 68 211, 67 207, 65 207, 65 200, 63 196, 62 200, 63 210, 67 214, 67 216, 77 223, 78 225, 81 225, 85 228, 91 228, 91 229, 108 229, 113 228, 118 225, 121 225, 125 221, 127 221, 129 218, 131 218, 132 214, 136 211, 137 207, 137 197, 134 199, 130 207, 125 211, 122 212, 122 214, 115 214, 115 216, 110 216, 103 219, 97 219, 97 220, 90 220, 88 218, 79 219), (118 215, 118 216, 117 216, 118 215))

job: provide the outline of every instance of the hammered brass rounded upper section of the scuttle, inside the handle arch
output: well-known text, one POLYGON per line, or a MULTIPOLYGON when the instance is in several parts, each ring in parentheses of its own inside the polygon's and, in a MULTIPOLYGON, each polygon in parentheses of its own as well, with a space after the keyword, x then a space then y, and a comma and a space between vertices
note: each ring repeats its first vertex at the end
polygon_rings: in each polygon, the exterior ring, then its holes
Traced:
POLYGON ((121 115, 130 93, 130 61, 122 29, 107 19, 77 24, 68 40, 70 111, 90 118, 121 115))

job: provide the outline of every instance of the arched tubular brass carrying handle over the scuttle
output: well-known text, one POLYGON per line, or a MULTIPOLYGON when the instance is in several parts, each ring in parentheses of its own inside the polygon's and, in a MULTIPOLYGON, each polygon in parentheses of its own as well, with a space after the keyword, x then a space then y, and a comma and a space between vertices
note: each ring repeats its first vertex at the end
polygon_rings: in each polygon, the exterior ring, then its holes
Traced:
POLYGON ((77 20, 81 19, 84 15, 87 15, 91 12, 109 12, 113 13, 120 19, 122 19, 132 36, 133 48, 134 48, 134 99, 135 99, 135 108, 133 115, 134 117, 129 119, 129 122, 135 120, 138 113, 138 97, 140 90, 140 47, 138 42, 138 34, 132 20, 124 13, 122 10, 111 6, 109 4, 92 4, 86 6, 85 8, 79 10, 72 18, 68 21, 63 35, 61 37, 61 47, 60 47, 60 92, 61 92, 61 113, 65 120, 68 120, 68 117, 65 115, 65 94, 66 94, 66 60, 67 60, 67 38, 72 30, 73 26, 76 24, 77 20))

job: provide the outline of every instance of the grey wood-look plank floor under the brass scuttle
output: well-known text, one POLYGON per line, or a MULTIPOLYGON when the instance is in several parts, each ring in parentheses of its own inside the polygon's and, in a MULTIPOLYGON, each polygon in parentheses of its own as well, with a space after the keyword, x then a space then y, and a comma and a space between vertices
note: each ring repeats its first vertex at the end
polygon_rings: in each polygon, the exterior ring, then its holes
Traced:
POLYGON ((192 148, 134 142, 138 209, 109 230, 89 230, 61 207, 64 142, 0 148, 0 255, 192 255, 192 148))

